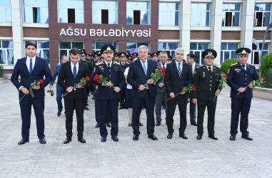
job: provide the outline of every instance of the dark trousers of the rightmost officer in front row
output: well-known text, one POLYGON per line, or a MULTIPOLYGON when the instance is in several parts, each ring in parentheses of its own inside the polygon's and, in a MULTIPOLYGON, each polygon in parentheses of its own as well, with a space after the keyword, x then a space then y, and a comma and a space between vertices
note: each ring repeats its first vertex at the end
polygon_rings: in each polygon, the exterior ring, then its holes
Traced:
POLYGON ((251 99, 231 98, 231 135, 237 134, 240 114, 240 131, 242 135, 248 135, 248 113, 250 109, 251 99))

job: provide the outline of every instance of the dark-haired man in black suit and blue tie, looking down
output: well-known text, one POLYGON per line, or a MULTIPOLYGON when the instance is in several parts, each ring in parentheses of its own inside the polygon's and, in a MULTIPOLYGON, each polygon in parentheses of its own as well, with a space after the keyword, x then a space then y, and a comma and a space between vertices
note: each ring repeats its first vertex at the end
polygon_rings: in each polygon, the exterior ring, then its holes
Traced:
POLYGON ((90 77, 89 68, 86 63, 79 61, 80 51, 78 48, 72 48, 70 51, 70 61, 61 65, 61 71, 59 72, 58 83, 64 89, 64 107, 66 112, 66 139, 64 144, 71 142, 73 135, 73 115, 76 110, 77 120, 77 137, 79 142, 86 143, 84 140, 84 105, 86 105, 86 86, 89 85, 87 81, 86 85, 78 85, 82 78, 90 77))

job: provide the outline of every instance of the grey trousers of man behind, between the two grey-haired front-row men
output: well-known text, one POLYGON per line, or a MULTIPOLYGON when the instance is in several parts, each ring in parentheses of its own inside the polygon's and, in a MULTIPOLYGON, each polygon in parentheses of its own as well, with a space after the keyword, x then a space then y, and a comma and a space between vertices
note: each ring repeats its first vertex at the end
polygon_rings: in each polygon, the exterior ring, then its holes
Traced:
MULTIPOLYGON (((156 121, 161 122, 161 106, 164 103, 167 103, 167 97, 166 97, 166 91, 163 93, 157 93, 156 95, 156 104, 155 104, 155 113, 156 113, 156 121)), ((167 120, 167 113, 168 113, 168 108, 166 105, 166 120, 167 120)))

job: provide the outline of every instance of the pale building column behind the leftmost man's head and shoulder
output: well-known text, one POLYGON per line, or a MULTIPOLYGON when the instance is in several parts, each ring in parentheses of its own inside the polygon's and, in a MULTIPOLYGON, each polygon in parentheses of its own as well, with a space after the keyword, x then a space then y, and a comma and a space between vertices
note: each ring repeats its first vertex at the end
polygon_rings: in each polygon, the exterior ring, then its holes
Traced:
POLYGON ((11 0, 11 14, 12 14, 12 40, 14 43, 14 65, 17 59, 24 56, 24 32, 23 32, 23 16, 21 16, 20 7, 22 6, 20 0, 11 0))

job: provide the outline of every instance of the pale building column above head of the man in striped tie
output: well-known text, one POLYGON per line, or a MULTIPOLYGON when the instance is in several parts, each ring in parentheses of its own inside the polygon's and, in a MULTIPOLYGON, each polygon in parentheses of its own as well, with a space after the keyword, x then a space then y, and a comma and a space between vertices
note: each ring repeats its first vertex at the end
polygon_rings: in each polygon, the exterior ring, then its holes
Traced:
MULTIPOLYGON (((179 47, 185 50, 185 55, 190 53, 191 38, 191 0, 181 1, 179 11, 179 47), (181 14, 181 12, 183 14, 181 14)), ((184 56, 186 58, 186 56, 184 56)))

